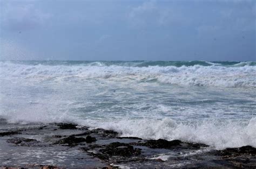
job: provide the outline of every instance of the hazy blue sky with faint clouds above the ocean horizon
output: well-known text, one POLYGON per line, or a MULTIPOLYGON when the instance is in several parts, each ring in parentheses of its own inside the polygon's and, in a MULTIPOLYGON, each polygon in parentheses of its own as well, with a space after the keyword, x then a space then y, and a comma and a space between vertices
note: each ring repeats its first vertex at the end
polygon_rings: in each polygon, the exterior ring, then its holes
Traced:
POLYGON ((0 0, 1 60, 256 60, 256 1, 0 0))

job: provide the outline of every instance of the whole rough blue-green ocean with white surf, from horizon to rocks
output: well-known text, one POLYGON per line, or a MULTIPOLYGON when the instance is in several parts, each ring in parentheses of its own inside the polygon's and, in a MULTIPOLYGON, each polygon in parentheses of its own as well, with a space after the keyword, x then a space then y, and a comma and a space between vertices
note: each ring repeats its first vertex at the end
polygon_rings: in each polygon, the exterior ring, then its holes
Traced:
POLYGON ((0 61, 0 118, 256 147, 256 62, 0 61))

